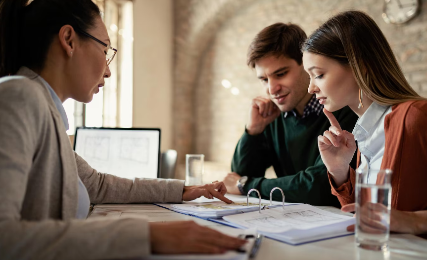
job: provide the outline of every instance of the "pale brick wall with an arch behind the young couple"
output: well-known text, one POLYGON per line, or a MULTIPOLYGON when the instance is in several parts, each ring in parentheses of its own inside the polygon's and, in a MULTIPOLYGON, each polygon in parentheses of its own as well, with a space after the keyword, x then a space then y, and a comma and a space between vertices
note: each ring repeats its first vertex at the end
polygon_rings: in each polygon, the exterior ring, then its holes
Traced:
MULTIPOLYGON (((381 0, 177 0, 175 2, 174 147, 229 167, 244 131, 249 102, 263 94, 246 66, 252 38, 276 22, 300 25, 309 35, 332 14, 368 12, 389 40, 414 89, 427 96, 427 0, 403 26, 386 24, 381 0), (222 86, 229 80, 239 94, 222 86)), ((179 173, 178 177, 182 176, 179 173)))

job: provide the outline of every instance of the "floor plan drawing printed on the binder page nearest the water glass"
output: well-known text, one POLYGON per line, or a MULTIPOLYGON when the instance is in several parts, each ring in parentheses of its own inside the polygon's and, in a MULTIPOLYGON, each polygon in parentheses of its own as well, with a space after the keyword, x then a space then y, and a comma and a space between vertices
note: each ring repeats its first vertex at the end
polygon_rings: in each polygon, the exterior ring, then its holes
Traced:
POLYGON ((282 214, 281 218, 263 217, 259 219, 246 220, 247 223, 262 227, 286 227, 304 223, 335 222, 338 218, 322 215, 311 210, 282 214))

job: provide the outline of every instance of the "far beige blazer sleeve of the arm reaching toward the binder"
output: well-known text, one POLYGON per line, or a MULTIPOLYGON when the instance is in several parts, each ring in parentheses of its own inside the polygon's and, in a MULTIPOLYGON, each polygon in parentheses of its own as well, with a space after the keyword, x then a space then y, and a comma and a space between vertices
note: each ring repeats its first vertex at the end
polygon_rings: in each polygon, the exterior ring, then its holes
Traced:
POLYGON ((173 179, 133 180, 99 173, 75 153, 79 177, 88 189, 91 203, 181 203, 184 181, 173 179))

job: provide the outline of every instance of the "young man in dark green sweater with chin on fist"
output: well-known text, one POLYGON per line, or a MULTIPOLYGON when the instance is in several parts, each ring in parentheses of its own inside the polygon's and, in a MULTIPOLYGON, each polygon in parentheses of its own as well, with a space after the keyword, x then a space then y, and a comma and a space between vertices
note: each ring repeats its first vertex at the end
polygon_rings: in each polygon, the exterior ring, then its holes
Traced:
MULTIPOLYGON (((234 194, 256 188, 267 199, 272 188, 280 187, 287 202, 340 207, 317 144, 317 137, 331 125, 323 105, 308 93, 310 76, 304 71, 299 48, 305 38, 299 26, 277 23, 263 29, 250 44, 247 64, 255 69, 268 97, 252 100, 233 156, 233 173, 224 183, 234 194), (265 179, 272 165, 278 178, 265 179)), ((342 129, 351 133, 357 115, 348 107, 333 114, 342 129)), ((282 201, 282 194, 274 192, 273 199, 282 201)))

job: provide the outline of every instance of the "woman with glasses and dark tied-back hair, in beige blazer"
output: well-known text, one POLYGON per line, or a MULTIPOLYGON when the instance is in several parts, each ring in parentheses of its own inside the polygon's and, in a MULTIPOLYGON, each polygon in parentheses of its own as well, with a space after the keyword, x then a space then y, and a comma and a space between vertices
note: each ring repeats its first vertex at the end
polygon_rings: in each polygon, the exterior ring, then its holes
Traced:
POLYGON ((90 102, 117 50, 91 0, 28 2, 0 0, 0 259, 126 259, 242 246, 193 222, 85 220, 91 202, 231 201, 223 183, 121 179, 74 153, 62 102, 90 102))

